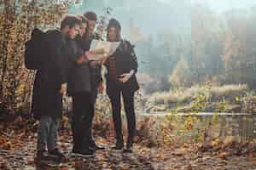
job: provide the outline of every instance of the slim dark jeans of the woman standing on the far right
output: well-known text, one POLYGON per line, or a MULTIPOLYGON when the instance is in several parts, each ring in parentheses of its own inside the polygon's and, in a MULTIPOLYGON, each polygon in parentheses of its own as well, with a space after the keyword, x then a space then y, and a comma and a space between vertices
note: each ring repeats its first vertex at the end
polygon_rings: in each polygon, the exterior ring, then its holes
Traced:
POLYGON ((117 144, 123 144, 122 120, 121 120, 121 94, 124 99, 125 115, 128 124, 127 145, 132 146, 133 138, 136 133, 136 116, 134 111, 134 92, 125 88, 111 88, 108 96, 111 101, 113 111, 113 124, 117 144))

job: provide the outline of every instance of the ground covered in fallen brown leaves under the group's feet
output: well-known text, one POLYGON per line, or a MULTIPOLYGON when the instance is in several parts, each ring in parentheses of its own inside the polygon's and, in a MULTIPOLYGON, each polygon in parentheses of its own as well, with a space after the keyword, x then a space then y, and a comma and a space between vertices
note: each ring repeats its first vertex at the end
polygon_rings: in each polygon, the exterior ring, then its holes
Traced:
POLYGON ((185 144, 183 146, 154 146, 137 143, 134 152, 124 154, 110 150, 113 138, 96 137, 106 150, 96 151, 93 158, 69 156, 72 137, 69 131, 61 131, 60 146, 67 155, 61 164, 35 161, 36 126, 33 123, 15 122, 13 126, 0 125, 0 169, 104 169, 104 170, 250 170, 256 169, 254 144, 237 144, 218 140, 206 144, 185 144), (21 129, 21 130, 20 130, 21 129))

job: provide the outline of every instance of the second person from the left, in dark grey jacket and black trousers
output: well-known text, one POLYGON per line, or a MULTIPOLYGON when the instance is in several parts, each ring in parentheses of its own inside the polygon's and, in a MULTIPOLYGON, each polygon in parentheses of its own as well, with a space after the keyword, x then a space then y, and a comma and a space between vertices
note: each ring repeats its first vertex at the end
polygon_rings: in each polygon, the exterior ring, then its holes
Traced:
POLYGON ((90 65, 88 59, 83 57, 84 53, 89 53, 89 45, 84 40, 84 30, 82 30, 86 29, 87 20, 81 16, 79 18, 82 20, 79 36, 75 41, 69 42, 69 46, 76 49, 72 56, 75 65, 68 71, 67 78, 67 94, 73 98, 73 154, 93 156, 94 150, 90 149, 90 131, 94 113, 90 93, 90 65))

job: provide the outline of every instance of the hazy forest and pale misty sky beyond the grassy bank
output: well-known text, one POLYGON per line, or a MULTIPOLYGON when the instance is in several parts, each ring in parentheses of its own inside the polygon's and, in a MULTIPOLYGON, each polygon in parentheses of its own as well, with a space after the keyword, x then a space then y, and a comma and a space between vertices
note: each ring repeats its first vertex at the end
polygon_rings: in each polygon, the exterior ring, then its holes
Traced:
POLYGON ((70 13, 101 16, 108 7, 136 45, 139 74, 159 82, 150 93, 208 79, 255 87, 255 1, 84 0, 70 13))

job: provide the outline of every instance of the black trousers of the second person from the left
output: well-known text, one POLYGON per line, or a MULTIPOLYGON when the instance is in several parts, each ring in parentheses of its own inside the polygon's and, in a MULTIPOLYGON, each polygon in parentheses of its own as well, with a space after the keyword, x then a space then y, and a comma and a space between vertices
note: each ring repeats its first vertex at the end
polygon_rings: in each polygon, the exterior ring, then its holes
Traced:
POLYGON ((94 111, 90 93, 73 95, 73 150, 88 149, 94 111))

